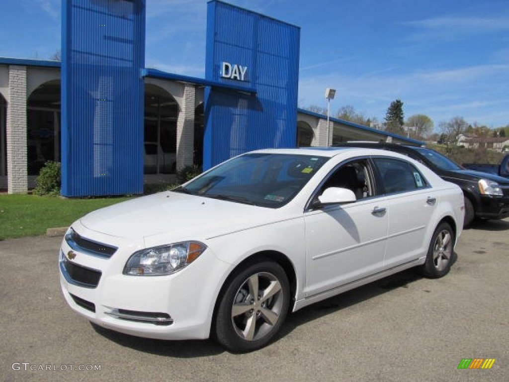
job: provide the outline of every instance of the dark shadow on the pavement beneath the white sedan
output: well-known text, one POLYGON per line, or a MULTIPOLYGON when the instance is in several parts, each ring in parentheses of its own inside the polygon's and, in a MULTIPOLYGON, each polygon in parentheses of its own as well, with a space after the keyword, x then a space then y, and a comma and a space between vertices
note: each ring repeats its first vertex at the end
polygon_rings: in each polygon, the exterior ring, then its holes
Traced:
MULTIPOLYGON (((453 266, 457 259, 458 256, 454 253, 452 259, 453 266)), ((336 313, 394 289, 408 288, 412 283, 421 279, 422 276, 415 269, 407 269, 398 274, 388 276, 373 283, 310 305, 295 313, 289 314, 274 341, 284 338, 299 326, 308 324, 315 319, 336 313)), ((215 356, 227 351, 213 340, 154 340, 114 332, 94 323, 91 323, 91 325, 98 334, 110 341, 138 351, 157 354, 158 356, 173 358, 199 358, 215 356)))

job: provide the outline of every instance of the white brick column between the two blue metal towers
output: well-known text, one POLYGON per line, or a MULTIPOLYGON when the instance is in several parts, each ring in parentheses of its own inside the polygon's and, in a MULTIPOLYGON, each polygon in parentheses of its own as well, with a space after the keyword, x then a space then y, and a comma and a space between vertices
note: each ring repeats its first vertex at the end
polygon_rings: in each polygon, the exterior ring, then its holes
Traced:
POLYGON ((194 150, 194 99, 194 85, 185 84, 182 109, 177 118, 177 171, 192 165, 194 150))

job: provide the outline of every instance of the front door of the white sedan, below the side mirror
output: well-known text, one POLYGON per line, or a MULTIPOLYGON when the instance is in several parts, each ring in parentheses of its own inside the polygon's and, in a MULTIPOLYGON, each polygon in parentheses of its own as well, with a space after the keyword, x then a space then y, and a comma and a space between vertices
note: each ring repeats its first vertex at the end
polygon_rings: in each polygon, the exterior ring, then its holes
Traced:
POLYGON ((304 213, 307 296, 383 269, 388 219, 370 174, 367 159, 343 164, 331 173, 318 195, 329 185, 338 186, 350 188, 357 201, 304 213), (347 180, 345 174, 352 170, 355 176, 347 180))

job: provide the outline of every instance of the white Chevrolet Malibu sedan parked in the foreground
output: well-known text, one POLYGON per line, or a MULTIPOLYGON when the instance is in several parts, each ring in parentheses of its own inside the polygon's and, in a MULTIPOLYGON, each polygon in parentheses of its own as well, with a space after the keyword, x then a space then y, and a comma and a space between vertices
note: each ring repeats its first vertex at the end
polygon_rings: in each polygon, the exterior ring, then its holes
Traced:
POLYGON ((89 213, 62 242, 62 291, 101 326, 265 346, 288 312, 410 267, 449 271, 463 193, 398 153, 271 149, 89 213))

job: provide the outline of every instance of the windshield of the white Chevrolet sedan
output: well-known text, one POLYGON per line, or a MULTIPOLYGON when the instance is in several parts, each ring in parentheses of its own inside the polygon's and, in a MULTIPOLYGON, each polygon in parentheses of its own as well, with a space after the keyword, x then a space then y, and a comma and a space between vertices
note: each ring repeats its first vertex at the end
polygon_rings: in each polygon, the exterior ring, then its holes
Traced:
POLYGON ((245 154, 174 191, 278 208, 292 200, 328 159, 297 154, 245 154))

